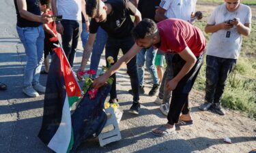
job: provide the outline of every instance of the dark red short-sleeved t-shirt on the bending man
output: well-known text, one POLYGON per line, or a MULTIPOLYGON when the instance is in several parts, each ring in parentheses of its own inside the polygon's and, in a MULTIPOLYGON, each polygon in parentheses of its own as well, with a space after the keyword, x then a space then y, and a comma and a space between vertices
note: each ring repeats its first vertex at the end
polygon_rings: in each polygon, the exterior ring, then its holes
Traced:
POLYGON ((179 53, 186 47, 199 56, 203 54, 206 40, 202 31, 189 22, 180 19, 170 18, 158 22, 160 32, 159 49, 166 53, 179 53))

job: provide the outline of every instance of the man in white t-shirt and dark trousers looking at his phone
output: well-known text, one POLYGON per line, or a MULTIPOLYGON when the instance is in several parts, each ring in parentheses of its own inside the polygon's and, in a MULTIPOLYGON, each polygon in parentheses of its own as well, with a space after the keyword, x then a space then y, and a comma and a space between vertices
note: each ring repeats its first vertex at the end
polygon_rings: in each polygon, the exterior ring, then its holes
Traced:
POLYGON ((225 0, 208 18, 206 33, 212 33, 206 56, 205 103, 199 109, 225 115, 221 97, 229 72, 236 65, 242 46, 242 35, 251 32, 251 8, 240 0, 225 0))

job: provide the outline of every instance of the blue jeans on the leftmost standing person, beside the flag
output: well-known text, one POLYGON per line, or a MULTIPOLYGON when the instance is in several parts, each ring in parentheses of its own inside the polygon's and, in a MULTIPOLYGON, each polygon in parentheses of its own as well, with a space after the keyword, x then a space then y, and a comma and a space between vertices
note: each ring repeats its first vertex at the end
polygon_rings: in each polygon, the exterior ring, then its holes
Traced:
POLYGON ((42 29, 42 26, 25 28, 16 26, 16 29, 27 55, 23 81, 23 86, 27 87, 39 82, 44 61, 44 29, 42 29))

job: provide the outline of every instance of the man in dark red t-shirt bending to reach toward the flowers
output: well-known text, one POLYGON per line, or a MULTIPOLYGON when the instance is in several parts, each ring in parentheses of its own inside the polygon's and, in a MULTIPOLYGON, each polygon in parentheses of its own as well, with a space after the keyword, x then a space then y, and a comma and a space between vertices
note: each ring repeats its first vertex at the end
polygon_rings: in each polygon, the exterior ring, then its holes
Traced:
POLYGON ((160 48, 163 52, 172 52, 175 55, 172 63, 173 79, 167 82, 166 86, 166 90, 173 90, 167 116, 168 122, 152 133, 165 136, 175 131, 174 124, 192 124, 188 94, 203 63, 206 41, 201 30, 180 19, 167 19, 156 24, 153 20, 145 18, 133 29, 132 34, 136 44, 109 71, 94 80, 94 87, 102 86, 111 74, 130 61, 142 47, 148 48, 154 45, 154 48, 160 48))

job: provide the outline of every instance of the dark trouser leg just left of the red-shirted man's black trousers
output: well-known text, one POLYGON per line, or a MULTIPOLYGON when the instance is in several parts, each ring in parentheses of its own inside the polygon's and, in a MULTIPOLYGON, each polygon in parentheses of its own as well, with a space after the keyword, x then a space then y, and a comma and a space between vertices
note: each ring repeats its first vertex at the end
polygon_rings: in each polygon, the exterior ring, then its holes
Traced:
POLYGON ((158 93, 158 97, 162 99, 162 103, 169 103, 171 99, 171 91, 166 90, 165 86, 167 82, 173 79, 173 56, 174 54, 165 54, 165 61, 167 63, 167 67, 165 69, 164 76, 162 77, 162 82, 158 93))

